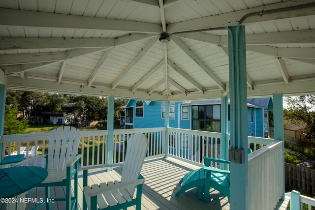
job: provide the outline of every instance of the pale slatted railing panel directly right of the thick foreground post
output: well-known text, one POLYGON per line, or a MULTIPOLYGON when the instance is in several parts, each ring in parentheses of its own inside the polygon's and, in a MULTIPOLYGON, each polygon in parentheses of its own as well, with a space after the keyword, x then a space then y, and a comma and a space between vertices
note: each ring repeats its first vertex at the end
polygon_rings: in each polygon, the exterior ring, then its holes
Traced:
POLYGON ((283 141, 274 141, 249 154, 249 209, 265 210, 277 206, 284 194, 283 152, 283 141))

